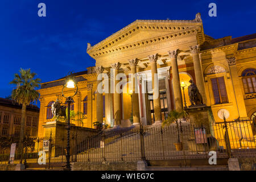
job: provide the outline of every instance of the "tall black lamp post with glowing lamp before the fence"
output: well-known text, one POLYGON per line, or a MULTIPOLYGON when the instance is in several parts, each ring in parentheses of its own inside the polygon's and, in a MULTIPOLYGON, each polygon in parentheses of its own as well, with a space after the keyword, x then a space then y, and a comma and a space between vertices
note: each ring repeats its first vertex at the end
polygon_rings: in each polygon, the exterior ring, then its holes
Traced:
MULTIPOLYGON (((71 73, 72 74, 72 73, 71 73)), ((61 95, 63 97, 66 98, 66 102, 68 104, 68 115, 67 115, 67 148, 66 148, 66 151, 67 151, 67 154, 66 154, 66 159, 67 159, 67 164, 66 164, 66 170, 70 171, 71 170, 71 166, 70 166, 70 145, 69 145, 69 141, 70 141, 70 105, 72 103, 72 97, 74 97, 76 94, 77 94, 77 85, 76 85, 76 82, 75 82, 75 77, 74 76, 70 76, 68 75, 66 80, 65 80, 65 84, 63 85, 63 88, 61 90, 61 95), (73 96, 64 96, 64 93, 63 93, 63 89, 64 88, 69 88, 69 89, 73 89, 76 87, 76 91, 75 91, 75 94, 73 94, 73 96)))

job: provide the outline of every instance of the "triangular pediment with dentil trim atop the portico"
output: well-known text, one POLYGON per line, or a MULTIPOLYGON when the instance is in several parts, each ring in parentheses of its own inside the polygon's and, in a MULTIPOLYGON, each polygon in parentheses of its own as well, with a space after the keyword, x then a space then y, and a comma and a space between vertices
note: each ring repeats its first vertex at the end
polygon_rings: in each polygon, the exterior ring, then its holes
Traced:
POLYGON ((187 35, 191 31, 203 34, 200 14, 197 14, 193 20, 136 20, 100 43, 94 46, 88 44, 87 52, 91 56, 100 56, 141 44, 139 42, 142 44, 147 41, 152 42, 152 40, 162 38, 161 36, 172 38, 177 35, 187 35))

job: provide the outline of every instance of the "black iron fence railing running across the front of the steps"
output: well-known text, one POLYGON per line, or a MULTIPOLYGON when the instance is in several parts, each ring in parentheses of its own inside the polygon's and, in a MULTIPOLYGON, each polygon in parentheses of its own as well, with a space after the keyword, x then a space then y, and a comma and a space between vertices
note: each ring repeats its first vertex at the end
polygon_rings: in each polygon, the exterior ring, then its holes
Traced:
MULTIPOLYGON (((253 121, 233 121, 196 126, 173 123, 165 127, 107 129, 89 137, 71 135, 71 161, 115 162, 141 159, 204 159, 256 156, 253 121)), ((0 138, 0 163, 66 162, 67 137, 0 138)))

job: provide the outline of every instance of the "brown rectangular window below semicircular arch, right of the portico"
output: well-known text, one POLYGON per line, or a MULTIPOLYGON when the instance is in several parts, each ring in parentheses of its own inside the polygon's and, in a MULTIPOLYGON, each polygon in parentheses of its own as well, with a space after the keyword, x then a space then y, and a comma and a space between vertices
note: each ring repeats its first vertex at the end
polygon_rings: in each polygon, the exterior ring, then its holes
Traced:
POLYGON ((212 81, 212 91, 215 104, 228 103, 224 77, 216 77, 210 80, 212 81))

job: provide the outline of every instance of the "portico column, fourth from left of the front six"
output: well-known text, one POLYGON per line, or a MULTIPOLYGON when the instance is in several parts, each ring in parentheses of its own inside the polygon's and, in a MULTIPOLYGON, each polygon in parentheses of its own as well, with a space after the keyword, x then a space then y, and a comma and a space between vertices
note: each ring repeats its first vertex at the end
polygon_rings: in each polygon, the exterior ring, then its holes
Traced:
POLYGON ((158 68, 156 66, 157 54, 148 55, 148 59, 150 60, 150 65, 151 65, 155 123, 161 123, 162 122, 162 110, 161 110, 158 75, 157 75, 158 74, 158 68))

